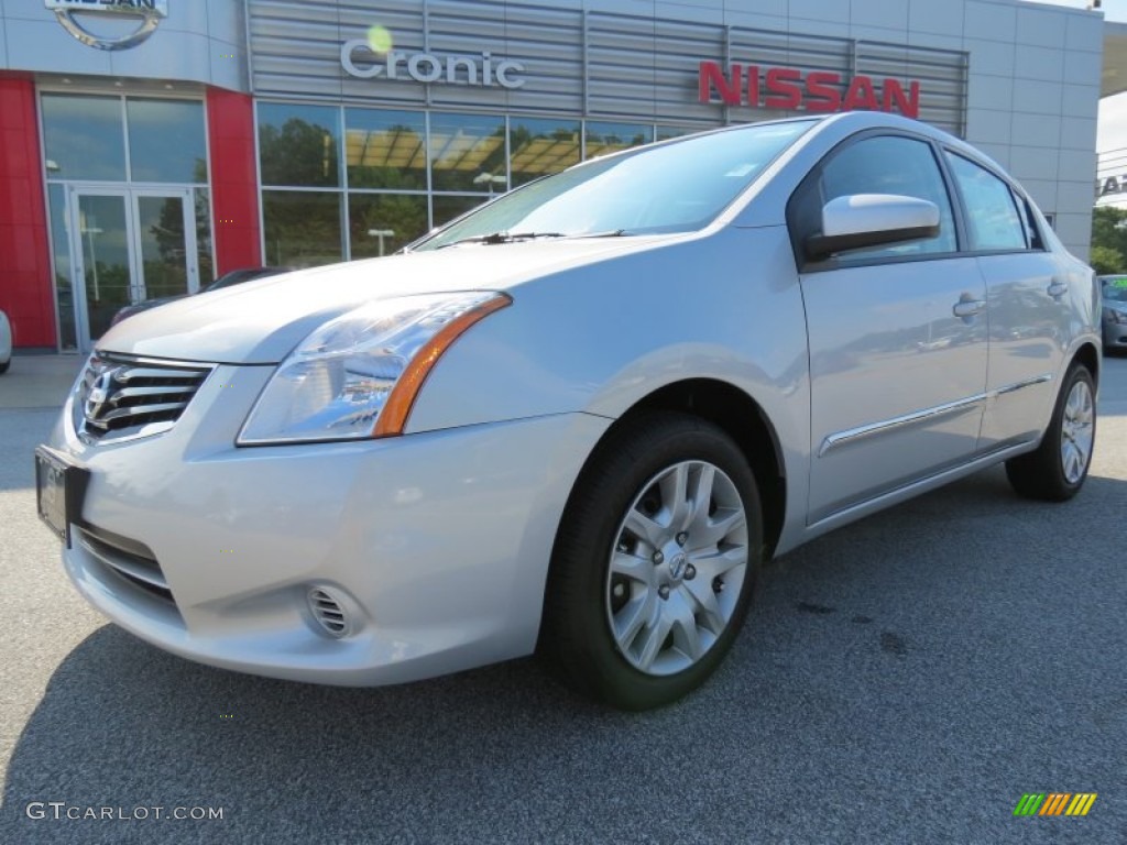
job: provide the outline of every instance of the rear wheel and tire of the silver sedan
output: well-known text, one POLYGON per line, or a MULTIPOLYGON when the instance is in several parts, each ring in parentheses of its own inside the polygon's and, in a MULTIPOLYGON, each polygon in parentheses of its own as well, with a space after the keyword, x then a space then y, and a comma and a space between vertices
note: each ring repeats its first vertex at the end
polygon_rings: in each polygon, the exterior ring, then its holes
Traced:
POLYGON ((1041 445, 1006 461, 1005 474, 1021 496, 1066 501, 1084 486, 1094 444, 1095 384, 1088 367, 1073 364, 1041 445))

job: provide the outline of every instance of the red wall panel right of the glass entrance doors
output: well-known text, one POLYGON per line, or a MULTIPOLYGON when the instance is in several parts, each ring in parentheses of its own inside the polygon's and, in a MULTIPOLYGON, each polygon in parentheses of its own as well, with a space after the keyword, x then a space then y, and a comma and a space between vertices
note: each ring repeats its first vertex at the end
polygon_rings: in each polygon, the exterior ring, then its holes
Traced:
POLYGON ((254 100, 234 91, 207 90, 215 274, 263 263, 255 167, 254 100))

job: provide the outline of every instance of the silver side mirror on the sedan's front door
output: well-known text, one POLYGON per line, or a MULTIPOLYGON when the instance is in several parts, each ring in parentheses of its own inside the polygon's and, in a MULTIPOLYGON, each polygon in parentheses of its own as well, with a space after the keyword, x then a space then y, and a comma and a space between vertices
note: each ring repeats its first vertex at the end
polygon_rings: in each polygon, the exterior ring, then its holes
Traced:
POLYGON ((898 194, 853 194, 822 208, 822 232, 804 244, 817 261, 846 249, 880 247, 939 234, 939 206, 898 194))

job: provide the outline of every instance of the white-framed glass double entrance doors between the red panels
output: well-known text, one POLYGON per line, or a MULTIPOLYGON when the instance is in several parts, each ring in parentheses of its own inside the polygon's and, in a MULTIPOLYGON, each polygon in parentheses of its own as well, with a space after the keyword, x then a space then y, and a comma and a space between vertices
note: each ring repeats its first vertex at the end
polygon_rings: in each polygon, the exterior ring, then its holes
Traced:
POLYGON ((83 352, 125 305, 199 290, 189 190, 76 187, 69 211, 83 352))

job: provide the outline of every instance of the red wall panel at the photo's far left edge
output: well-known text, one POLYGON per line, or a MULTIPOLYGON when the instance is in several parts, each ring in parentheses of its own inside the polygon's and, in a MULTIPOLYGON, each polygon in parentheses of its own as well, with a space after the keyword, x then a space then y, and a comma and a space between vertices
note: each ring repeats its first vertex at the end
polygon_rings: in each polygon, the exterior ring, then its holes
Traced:
POLYGON ((0 309, 17 347, 55 346, 35 81, 0 73, 0 309))

